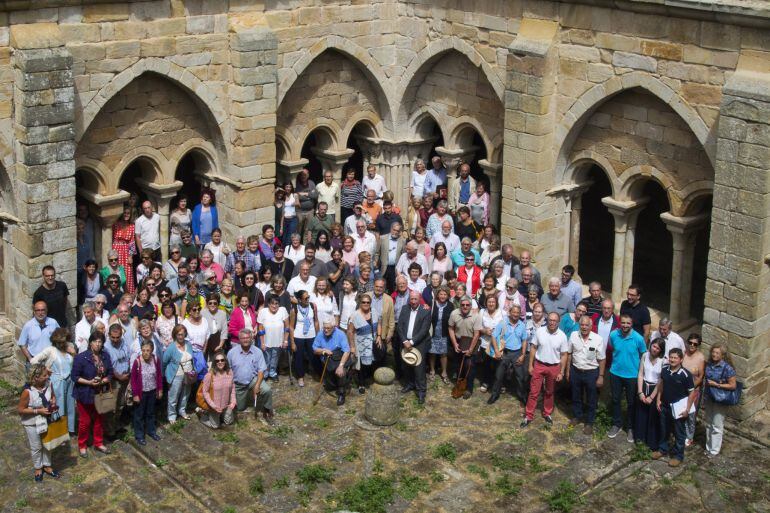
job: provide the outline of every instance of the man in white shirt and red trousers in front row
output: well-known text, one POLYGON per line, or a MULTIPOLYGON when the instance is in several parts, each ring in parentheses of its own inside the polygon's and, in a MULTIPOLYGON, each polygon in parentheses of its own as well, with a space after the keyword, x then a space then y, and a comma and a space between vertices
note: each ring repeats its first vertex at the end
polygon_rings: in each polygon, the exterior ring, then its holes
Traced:
POLYGON ((559 329, 559 314, 548 314, 548 323, 535 331, 530 345, 535 350, 529 352, 529 374, 532 376, 527 399, 526 417, 521 421, 521 427, 527 427, 535 417, 537 399, 545 381, 545 396, 543 397, 543 418, 546 424, 552 425, 553 393, 556 383, 564 379, 569 354, 567 336, 559 329))

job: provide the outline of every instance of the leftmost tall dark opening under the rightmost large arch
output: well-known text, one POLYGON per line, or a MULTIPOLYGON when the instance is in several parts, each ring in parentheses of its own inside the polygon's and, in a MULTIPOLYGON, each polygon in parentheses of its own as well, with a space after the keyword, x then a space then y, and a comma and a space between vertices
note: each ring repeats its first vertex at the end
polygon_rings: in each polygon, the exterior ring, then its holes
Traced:
POLYGON ((580 199, 578 273, 583 283, 598 281, 604 290, 612 290, 615 221, 602 203, 612 196, 612 186, 599 166, 591 166, 585 177, 592 183, 580 199))

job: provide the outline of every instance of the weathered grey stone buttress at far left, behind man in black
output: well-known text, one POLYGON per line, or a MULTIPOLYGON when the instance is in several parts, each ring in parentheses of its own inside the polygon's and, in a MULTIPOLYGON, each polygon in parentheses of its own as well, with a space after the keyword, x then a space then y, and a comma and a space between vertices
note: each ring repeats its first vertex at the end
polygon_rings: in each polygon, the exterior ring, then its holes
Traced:
MULTIPOLYGON (((11 234, 6 287, 14 300, 8 317, 21 326, 30 318, 32 294, 42 268, 76 295, 75 132, 72 56, 55 23, 14 25, 12 133, 15 137, 15 206, 19 223, 11 234)), ((10 100, 10 99, 9 99, 10 100)), ((68 309, 74 321, 74 308, 68 309)))

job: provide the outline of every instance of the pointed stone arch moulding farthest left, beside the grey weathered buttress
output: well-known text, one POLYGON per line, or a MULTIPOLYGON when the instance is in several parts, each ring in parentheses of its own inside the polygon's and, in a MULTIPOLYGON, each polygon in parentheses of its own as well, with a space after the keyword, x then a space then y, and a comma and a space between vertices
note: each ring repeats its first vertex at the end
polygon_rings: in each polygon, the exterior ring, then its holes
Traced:
POLYGON ((81 111, 75 116, 75 142, 79 142, 93 120, 108 101, 123 90, 134 79, 145 73, 160 75, 181 87, 190 95, 204 115, 210 116, 218 128, 215 137, 221 150, 226 151, 224 140, 229 133, 229 118, 222 102, 198 77, 166 59, 147 57, 133 66, 118 73, 107 85, 102 87, 81 111))

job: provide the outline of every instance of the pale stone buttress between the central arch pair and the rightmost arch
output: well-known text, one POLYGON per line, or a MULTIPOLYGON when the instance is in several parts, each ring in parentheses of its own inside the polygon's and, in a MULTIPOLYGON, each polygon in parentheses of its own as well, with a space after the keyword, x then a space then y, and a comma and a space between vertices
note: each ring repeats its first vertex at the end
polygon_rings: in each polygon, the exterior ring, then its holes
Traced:
POLYGON ((558 273, 563 237, 556 219, 557 200, 546 191, 554 187, 554 129, 557 102, 556 40, 558 22, 523 18, 508 48, 503 137, 503 180, 500 235, 517 252, 536 256, 544 276, 558 273))

